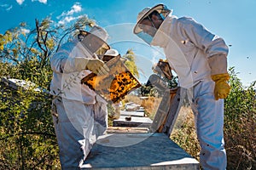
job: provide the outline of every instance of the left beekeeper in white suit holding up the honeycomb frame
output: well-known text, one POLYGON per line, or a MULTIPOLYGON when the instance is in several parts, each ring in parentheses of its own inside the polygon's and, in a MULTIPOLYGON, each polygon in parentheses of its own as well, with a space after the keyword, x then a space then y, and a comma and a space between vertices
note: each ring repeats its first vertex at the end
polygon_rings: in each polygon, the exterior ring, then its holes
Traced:
MULTIPOLYGON (((103 41, 108 37, 99 26, 90 30, 92 34, 103 41)), ((84 37, 89 38, 86 46, 79 37, 74 37, 50 59, 53 70, 50 94, 54 96, 52 115, 62 169, 79 168, 97 137, 108 127, 107 102, 80 82, 91 72, 103 74, 108 71, 95 51, 90 50, 90 46, 97 46, 96 40, 91 39, 95 38, 93 35, 84 37)))

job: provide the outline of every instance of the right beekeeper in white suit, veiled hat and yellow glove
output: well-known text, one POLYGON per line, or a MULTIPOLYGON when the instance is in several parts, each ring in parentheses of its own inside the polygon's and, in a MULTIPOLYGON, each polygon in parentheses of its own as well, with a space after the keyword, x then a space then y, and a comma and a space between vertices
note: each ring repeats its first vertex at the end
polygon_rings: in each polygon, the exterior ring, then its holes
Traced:
POLYGON ((224 98, 230 86, 226 82, 228 47, 224 40, 192 18, 177 18, 163 4, 144 8, 138 14, 134 33, 163 48, 181 88, 193 92, 203 169, 225 169, 224 98))

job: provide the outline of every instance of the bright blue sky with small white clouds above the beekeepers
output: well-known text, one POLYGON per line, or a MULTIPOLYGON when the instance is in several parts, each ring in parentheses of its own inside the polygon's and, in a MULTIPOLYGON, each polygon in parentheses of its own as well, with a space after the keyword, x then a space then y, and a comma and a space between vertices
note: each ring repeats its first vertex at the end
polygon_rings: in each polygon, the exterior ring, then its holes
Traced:
POLYGON ((157 3, 165 3, 177 17, 193 17, 208 30, 223 37, 230 45, 229 67, 235 66, 245 86, 256 81, 255 0, 1 0, 0 33, 23 21, 33 28, 35 19, 50 16, 52 20, 67 23, 81 14, 87 14, 110 32, 109 43, 120 54, 125 54, 127 48, 135 51, 139 56, 138 65, 144 73, 143 79, 150 74, 148 71, 152 62, 163 58, 163 54, 133 37, 131 30, 137 13, 157 3))

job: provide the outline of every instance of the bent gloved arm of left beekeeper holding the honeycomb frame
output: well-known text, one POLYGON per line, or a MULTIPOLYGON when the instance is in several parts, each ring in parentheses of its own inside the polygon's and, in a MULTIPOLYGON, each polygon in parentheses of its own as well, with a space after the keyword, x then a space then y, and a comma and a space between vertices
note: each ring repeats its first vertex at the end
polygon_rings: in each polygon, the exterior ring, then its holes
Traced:
POLYGON ((74 71, 90 70, 98 75, 107 74, 108 66, 104 65, 101 59, 95 56, 93 59, 84 57, 68 57, 73 50, 72 44, 62 46, 58 52, 50 59, 53 71, 58 73, 70 73, 74 71))

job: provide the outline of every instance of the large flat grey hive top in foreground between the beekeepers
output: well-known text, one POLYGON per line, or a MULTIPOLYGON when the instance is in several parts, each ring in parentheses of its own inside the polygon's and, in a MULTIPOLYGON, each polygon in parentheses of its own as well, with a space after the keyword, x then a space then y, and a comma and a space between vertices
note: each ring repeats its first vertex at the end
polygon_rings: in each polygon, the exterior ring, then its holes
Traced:
POLYGON ((199 162, 164 133, 108 133, 93 146, 83 167, 195 170, 199 169, 199 162))

